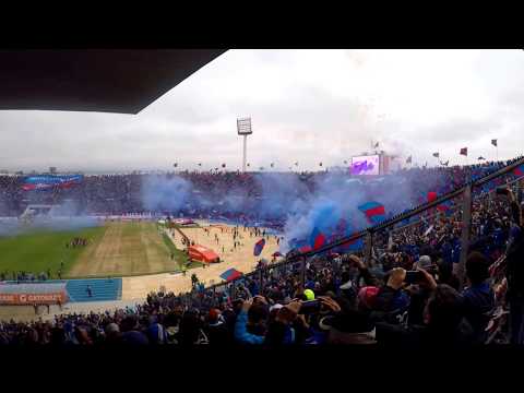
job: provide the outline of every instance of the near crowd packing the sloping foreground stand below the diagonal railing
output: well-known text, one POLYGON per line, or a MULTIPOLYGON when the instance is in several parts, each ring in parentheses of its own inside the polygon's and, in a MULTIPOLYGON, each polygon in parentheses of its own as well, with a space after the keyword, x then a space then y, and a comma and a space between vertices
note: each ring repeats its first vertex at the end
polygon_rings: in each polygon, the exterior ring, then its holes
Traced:
MULTIPOLYGON (((458 184, 477 169, 464 169, 458 184)), ((0 344, 523 344, 522 195, 507 190, 475 199, 464 282, 455 271, 463 225, 456 204, 377 234, 368 263, 359 252, 324 252, 277 266, 260 263, 234 284, 205 288, 194 277, 189 294, 154 293, 142 305, 115 312, 0 322, 0 344)))

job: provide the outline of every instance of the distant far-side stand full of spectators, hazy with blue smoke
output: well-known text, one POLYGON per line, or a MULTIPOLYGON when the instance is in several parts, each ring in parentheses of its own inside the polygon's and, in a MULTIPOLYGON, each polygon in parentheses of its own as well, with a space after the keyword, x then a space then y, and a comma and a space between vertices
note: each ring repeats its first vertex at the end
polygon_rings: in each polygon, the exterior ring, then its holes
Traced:
POLYGON ((394 214, 426 202, 428 192, 449 192, 505 164, 412 168, 383 177, 327 171, 96 175, 84 176, 71 187, 31 191, 23 188, 26 176, 0 176, 0 216, 20 216, 29 204, 58 204, 68 215, 153 211, 281 221, 300 203, 343 188, 384 203, 389 214, 394 214), (389 198, 392 189, 402 192, 403 198, 389 198))

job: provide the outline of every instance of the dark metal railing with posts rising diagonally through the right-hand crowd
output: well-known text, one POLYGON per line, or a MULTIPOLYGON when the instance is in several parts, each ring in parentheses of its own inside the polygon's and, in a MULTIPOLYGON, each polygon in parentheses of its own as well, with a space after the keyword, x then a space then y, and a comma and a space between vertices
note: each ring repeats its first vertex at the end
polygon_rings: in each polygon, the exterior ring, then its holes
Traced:
MULTIPOLYGON (((331 243, 327 243, 317 250, 312 250, 309 252, 303 252, 303 253, 297 253, 294 255, 289 255, 286 258, 285 261, 277 262, 277 263, 272 263, 269 266, 262 270, 255 270, 253 272, 247 273, 242 275, 241 277, 238 277, 231 282, 228 283, 218 283, 211 285, 205 288, 205 290, 213 290, 213 291, 223 291, 223 290, 228 290, 229 294, 231 294, 231 297, 235 297, 235 290, 236 290, 236 285, 241 284, 245 282, 246 278, 250 279, 255 279, 259 284, 259 287, 263 289, 264 287, 264 282, 263 277, 269 273, 273 271, 282 271, 283 269, 289 269, 289 267, 297 267, 297 265, 300 266, 301 270, 301 282, 302 286, 305 283, 305 275, 306 275, 306 261, 310 259, 311 257, 314 257, 317 254, 321 254, 324 252, 327 252, 330 250, 333 250, 335 248, 338 248, 341 246, 344 246, 348 242, 358 240, 358 239, 364 239, 366 241, 366 247, 364 251, 364 258, 365 261, 368 265, 372 264, 373 258, 372 258, 372 246, 373 246, 373 237, 379 234, 380 231, 383 231, 384 229, 391 229, 397 224, 402 224, 406 221, 408 221, 412 217, 415 217, 417 215, 421 215, 425 212, 428 212, 430 210, 434 210, 437 206, 441 205, 442 203, 446 201, 451 201, 454 199, 462 199, 461 205, 455 206, 455 209, 460 209, 462 211, 462 238, 461 238, 461 258, 460 262, 457 263, 457 269, 456 269, 456 274, 461 281, 461 284, 464 283, 464 273, 465 273, 465 260, 467 257, 467 252, 469 250, 469 241, 471 241, 471 229, 472 229, 472 206, 473 206, 473 198, 474 198, 474 190, 481 187, 483 184, 497 179, 499 177, 509 175, 512 172, 515 168, 520 167, 521 165, 524 165, 524 157, 517 157, 513 160, 510 160, 508 165, 505 165, 502 168, 493 170, 491 174, 488 174, 479 179, 476 180, 471 180, 467 183, 465 183, 463 187, 460 187, 453 191, 450 191, 441 196, 438 196, 436 200, 420 204, 418 206, 415 206, 414 209, 397 214, 393 216, 392 218, 384 221, 378 225, 368 227, 366 229, 359 230, 357 233, 354 233, 350 236, 341 238, 336 241, 333 241, 331 243)), ((521 180, 524 178, 524 176, 515 176, 516 178, 510 181, 505 181, 505 186, 516 186, 519 187, 519 183, 521 180)), ((495 190, 491 190, 490 192, 495 192, 495 190)), ((412 224, 412 223, 410 223, 412 224)), ((414 223, 415 224, 415 223, 414 223)), ((333 265, 336 269, 336 263, 333 265)))

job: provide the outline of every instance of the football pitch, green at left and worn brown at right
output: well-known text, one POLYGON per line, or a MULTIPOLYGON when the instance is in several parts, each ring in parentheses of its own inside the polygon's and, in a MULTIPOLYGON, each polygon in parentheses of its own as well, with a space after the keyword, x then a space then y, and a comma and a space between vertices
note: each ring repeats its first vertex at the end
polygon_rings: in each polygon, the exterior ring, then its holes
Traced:
POLYGON ((0 272, 57 273, 62 278, 107 277, 175 272, 186 258, 159 233, 155 223, 120 222, 70 231, 35 231, 0 238, 0 272), (67 248, 73 238, 87 246, 67 248), (171 253, 174 259, 171 259, 171 253))

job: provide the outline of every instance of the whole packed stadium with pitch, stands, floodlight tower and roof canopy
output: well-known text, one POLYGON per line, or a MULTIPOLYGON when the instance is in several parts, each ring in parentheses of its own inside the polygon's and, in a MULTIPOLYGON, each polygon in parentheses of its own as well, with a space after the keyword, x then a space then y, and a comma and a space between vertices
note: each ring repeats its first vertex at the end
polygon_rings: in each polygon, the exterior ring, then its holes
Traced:
MULTIPOLYGON (((135 114, 221 53, 147 97, 71 104, 71 84, 0 107, 135 114)), ((0 174, 1 344, 522 344, 522 156, 415 166, 373 141, 253 170, 254 124, 237 120, 239 168, 0 174)))

